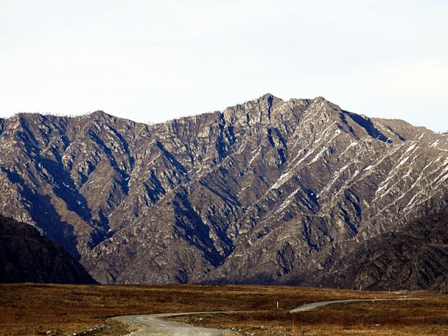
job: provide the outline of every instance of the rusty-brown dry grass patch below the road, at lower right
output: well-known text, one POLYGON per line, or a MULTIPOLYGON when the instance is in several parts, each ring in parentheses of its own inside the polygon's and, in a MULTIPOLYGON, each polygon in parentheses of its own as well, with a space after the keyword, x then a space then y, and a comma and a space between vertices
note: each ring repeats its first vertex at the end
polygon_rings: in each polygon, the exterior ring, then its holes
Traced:
POLYGON ((176 318, 195 325, 235 328, 242 335, 448 335, 446 297, 422 301, 335 304, 300 313, 201 315, 176 318))

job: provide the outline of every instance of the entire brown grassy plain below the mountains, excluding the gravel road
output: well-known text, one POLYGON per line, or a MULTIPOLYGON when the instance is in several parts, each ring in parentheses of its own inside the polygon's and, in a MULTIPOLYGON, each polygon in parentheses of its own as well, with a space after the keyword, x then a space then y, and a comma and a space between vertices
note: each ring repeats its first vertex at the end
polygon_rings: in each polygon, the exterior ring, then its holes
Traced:
POLYGON ((182 317, 249 335, 447 335, 448 300, 413 293, 419 302, 335 304, 290 314, 304 303, 400 295, 354 290, 263 286, 0 285, 0 335, 125 335, 111 316, 177 311, 260 311, 182 317), (279 309, 276 309, 279 302, 279 309), (97 330, 85 332, 95 326, 97 330))

